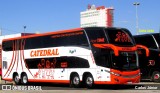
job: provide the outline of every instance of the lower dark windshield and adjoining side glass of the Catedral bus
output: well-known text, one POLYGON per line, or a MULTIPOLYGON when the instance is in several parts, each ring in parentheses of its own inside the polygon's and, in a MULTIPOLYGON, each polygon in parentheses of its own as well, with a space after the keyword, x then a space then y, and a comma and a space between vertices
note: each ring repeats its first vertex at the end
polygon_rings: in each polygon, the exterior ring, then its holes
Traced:
POLYGON ((112 50, 99 49, 95 54, 96 64, 102 67, 109 67, 117 70, 136 70, 138 69, 137 52, 120 52, 115 56, 112 50))

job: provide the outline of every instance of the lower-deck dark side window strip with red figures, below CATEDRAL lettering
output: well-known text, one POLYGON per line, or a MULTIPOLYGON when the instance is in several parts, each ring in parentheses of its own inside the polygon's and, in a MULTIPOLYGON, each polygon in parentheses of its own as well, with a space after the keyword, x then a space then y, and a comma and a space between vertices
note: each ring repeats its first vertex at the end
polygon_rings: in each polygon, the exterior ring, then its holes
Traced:
POLYGON ((57 57, 26 59, 28 68, 50 69, 50 68, 89 68, 86 59, 79 57, 57 57))

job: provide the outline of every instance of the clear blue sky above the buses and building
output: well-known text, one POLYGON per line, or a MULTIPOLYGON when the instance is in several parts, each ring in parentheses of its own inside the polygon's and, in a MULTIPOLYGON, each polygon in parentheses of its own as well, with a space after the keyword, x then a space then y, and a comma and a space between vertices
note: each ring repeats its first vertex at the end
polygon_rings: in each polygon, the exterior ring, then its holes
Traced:
MULTIPOLYGON (((80 27, 80 12, 87 5, 114 7, 114 27, 136 34, 136 7, 139 2, 140 31, 160 30, 160 0, 0 0, 2 35, 45 33, 80 27), (26 29, 24 30, 24 26, 26 29)), ((139 32, 139 34, 150 32, 139 32)))

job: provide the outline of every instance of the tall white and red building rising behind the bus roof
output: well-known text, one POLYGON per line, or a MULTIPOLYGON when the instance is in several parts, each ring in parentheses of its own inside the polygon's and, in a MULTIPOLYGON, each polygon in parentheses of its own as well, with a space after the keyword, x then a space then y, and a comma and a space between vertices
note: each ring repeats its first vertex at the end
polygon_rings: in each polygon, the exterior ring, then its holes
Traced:
POLYGON ((87 10, 80 13, 80 25, 81 27, 112 27, 113 11, 113 7, 88 5, 87 10))

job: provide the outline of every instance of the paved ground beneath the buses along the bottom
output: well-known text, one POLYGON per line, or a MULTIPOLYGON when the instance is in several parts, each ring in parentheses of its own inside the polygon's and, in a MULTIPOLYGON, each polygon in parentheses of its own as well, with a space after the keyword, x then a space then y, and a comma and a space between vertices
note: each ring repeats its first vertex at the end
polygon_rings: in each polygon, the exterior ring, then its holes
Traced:
POLYGON ((160 83, 146 81, 129 85, 97 85, 93 89, 87 89, 84 87, 70 88, 69 85, 45 83, 23 86, 2 80, 0 91, 1 93, 160 93, 160 83), (6 88, 6 86, 11 87, 11 90, 2 89, 2 87, 6 88))

